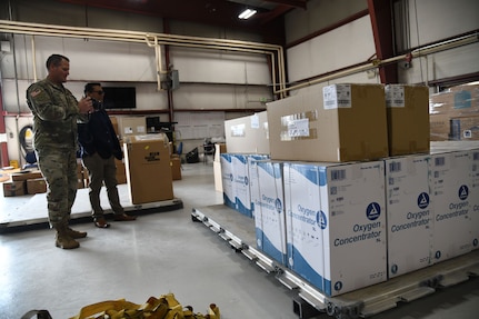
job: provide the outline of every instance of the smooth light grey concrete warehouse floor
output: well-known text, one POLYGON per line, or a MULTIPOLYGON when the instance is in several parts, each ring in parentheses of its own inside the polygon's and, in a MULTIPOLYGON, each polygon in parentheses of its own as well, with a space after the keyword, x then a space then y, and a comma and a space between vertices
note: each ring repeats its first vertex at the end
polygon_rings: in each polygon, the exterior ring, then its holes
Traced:
MULTIPOLYGON (((88 231, 80 249, 56 248, 50 229, 1 233, 0 319, 20 318, 31 309, 47 309, 53 319, 70 318, 90 303, 121 298, 143 303, 168 292, 196 312, 204 313, 216 302, 223 319, 298 318, 295 292, 192 222, 192 208, 222 203, 212 163, 183 165, 182 177, 173 182, 182 209, 112 222, 109 229, 76 225, 88 231)), ((1 197, 0 209, 12 211, 28 200, 1 197)), ((472 278, 375 318, 472 319, 478 313, 479 280, 472 278)))

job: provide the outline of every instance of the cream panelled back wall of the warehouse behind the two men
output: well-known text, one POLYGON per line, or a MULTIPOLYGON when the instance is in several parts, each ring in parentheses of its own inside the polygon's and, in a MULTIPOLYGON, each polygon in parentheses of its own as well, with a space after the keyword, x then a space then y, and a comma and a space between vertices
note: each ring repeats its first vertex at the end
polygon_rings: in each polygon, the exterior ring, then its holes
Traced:
MULTIPOLYGON (((11 11, 7 3, 0 4, 0 19, 140 31, 146 34, 163 32, 163 21, 157 17, 86 9, 83 6, 57 1, 17 0, 11 3, 11 11)), ((178 21, 169 23, 173 34, 248 42, 260 40, 259 36, 251 33, 178 21)), ((31 123, 24 92, 30 83, 47 76, 44 61, 51 53, 62 53, 70 58, 71 69, 66 87, 77 98, 82 96, 83 86, 88 81, 100 81, 103 86, 134 86, 134 111, 151 112, 160 116, 161 121, 186 118, 178 116, 170 119, 167 91, 158 90, 154 49, 147 43, 24 34, 1 34, 1 40, 9 48, 1 52, 0 71, 10 159, 22 161, 18 132, 31 123)), ((270 68, 263 54, 174 46, 169 46, 169 50, 170 66, 166 66, 166 48, 161 46, 161 69, 170 67, 179 72, 180 87, 172 91, 176 110, 218 110, 213 118, 224 119, 245 114, 247 109, 263 109, 265 101, 272 99, 270 68), (228 110, 228 114, 223 110, 228 110)), ((198 119, 201 120, 202 117, 198 119)), ((184 136, 189 134, 186 132, 184 136)), ((223 138, 223 134, 211 138, 223 138)), ((202 137, 184 142, 184 149, 189 150, 202 144, 202 137)))

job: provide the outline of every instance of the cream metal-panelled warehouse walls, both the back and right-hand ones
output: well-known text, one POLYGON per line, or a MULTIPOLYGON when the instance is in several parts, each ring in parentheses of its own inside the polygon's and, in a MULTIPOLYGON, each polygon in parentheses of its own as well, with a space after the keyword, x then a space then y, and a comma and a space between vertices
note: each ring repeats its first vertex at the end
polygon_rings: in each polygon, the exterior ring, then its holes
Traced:
MULTIPOLYGON (((68 24, 142 32, 163 32, 163 21, 154 17, 138 17, 128 12, 112 12, 59 3, 56 1, 16 0, 13 10, 0 4, 0 19, 27 22, 68 24)), ((346 24, 350 17, 368 9, 367 0, 310 0, 307 10, 296 9, 286 16, 287 42, 292 43, 321 30, 320 36, 289 47, 286 51, 289 83, 320 77, 338 69, 362 63, 375 57, 375 40, 370 17, 362 16, 346 24), (339 26, 330 28, 331 26, 339 26)), ((397 53, 402 54, 418 46, 426 46, 465 32, 479 29, 479 2, 475 0, 402 0, 393 1, 397 53)), ((210 37, 260 41, 257 34, 219 29, 196 23, 170 21, 173 34, 210 37)), ((137 87, 138 110, 158 110, 162 121, 168 108, 164 91, 157 91, 154 52, 146 44, 98 41, 92 39, 69 39, 36 37, 36 53, 32 53, 30 36, 0 34, 10 50, 1 52, 0 71, 2 80, 3 108, 7 117, 9 154, 18 159, 20 152, 16 142, 17 132, 28 122, 22 117, 29 110, 24 102, 24 90, 34 79, 46 76, 44 60, 54 52, 71 58, 71 74, 67 87, 80 97, 86 81, 98 80, 104 84, 137 87), (18 117, 17 114, 20 114, 18 117)), ((445 50, 425 58, 413 59, 405 67, 398 63, 399 82, 432 82, 445 78, 479 72, 477 52, 479 44, 467 44, 445 50)), ((162 50, 164 47, 162 47, 162 50)), ((222 114, 245 116, 243 110, 263 108, 265 99, 272 99, 267 59, 263 56, 204 51, 188 48, 170 48, 170 62, 179 70, 180 88, 173 91, 174 109, 221 110, 238 112, 222 114)), ((164 59, 163 68, 164 66, 164 59)), ((360 72, 328 80, 331 82, 380 82, 378 72, 360 72)), ((317 89, 313 86, 303 90, 317 89)), ((292 91, 292 94, 298 93, 292 91)), ((188 118, 188 117, 187 117, 188 118)), ((174 119, 173 119, 174 120, 174 119)), ((194 142, 193 142, 194 143, 194 142)), ((188 147, 186 148, 188 149, 188 147)))

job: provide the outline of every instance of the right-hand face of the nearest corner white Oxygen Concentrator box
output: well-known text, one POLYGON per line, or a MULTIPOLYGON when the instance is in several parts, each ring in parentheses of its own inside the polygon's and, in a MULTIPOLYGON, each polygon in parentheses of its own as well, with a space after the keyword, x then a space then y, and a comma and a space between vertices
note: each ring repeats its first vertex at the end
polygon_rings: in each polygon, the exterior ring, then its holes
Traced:
POLYGON ((319 168, 325 287, 337 296, 387 280, 385 163, 319 168))

